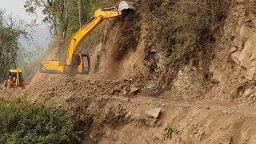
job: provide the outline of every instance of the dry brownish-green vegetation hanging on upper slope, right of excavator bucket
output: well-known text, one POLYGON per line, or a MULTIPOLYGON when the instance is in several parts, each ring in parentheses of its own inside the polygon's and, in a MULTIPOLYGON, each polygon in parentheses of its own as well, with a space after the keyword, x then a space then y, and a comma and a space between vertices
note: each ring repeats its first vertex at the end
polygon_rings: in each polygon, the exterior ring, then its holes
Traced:
MULTIPOLYGON (((166 65, 178 66, 211 50, 214 34, 226 18, 229 3, 217 1, 143 0, 147 38, 166 51, 166 65)), ((143 10, 143 11, 144 11, 143 10)))

